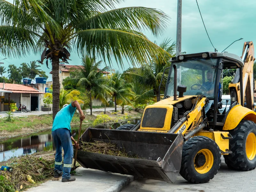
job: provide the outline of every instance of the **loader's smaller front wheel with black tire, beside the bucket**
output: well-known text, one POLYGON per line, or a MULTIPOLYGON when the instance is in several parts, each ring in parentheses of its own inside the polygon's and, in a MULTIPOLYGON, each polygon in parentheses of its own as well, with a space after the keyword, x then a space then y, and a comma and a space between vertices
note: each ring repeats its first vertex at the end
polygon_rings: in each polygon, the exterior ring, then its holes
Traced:
POLYGON ((220 169, 220 148, 208 137, 195 136, 183 145, 180 175, 191 183, 206 183, 220 169))

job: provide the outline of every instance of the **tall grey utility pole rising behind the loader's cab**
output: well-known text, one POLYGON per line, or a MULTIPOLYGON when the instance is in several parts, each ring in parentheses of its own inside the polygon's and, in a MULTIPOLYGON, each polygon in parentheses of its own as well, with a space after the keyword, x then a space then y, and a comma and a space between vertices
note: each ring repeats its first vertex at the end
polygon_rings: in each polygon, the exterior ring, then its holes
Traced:
MULTIPOLYGON (((177 6, 177 32, 176 32, 176 57, 181 54, 181 2, 182 0, 178 0, 177 6)), ((177 83, 181 84, 181 69, 177 68, 177 83)))

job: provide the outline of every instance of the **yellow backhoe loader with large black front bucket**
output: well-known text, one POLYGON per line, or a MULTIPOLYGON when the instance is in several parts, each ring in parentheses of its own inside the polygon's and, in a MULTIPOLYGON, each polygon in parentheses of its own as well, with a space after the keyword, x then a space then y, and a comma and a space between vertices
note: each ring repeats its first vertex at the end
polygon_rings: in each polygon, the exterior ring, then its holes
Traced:
POLYGON ((164 99, 148 105, 138 124, 88 128, 80 138, 116 143, 140 158, 78 151, 77 161, 85 168, 166 182, 179 173, 192 183, 208 182, 220 168, 221 155, 231 169, 255 169, 254 60, 252 42, 244 43, 242 57, 202 52, 172 58, 164 99), (224 69, 236 73, 229 84, 230 108, 220 113, 224 69))

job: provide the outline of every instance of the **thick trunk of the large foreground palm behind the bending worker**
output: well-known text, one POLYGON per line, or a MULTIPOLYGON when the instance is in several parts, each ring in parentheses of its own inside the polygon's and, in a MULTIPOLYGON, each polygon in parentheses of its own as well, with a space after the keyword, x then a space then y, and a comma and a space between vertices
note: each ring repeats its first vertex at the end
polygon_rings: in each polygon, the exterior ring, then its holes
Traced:
POLYGON ((52 57, 52 120, 59 111, 60 105, 60 78, 59 78, 59 64, 58 56, 52 57))

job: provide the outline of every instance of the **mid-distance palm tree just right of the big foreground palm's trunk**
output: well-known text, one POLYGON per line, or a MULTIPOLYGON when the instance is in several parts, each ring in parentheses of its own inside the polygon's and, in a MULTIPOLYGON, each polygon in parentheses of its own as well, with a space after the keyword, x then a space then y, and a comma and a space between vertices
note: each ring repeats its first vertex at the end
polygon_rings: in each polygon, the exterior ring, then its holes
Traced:
MULTIPOLYGON (((102 61, 96 62, 95 58, 91 58, 86 55, 82 58, 82 67, 75 70, 75 78, 69 78, 65 81, 65 85, 73 84, 76 86, 84 87, 89 92, 90 98, 90 110, 92 115, 92 97, 95 95, 95 91, 98 93, 98 98, 104 103, 108 102, 106 97, 102 94, 110 95, 111 91, 107 84, 111 82, 110 79, 103 76, 103 72, 108 70, 108 67, 100 68, 102 61)), ((96 97, 97 98, 97 97, 96 97)))

